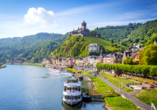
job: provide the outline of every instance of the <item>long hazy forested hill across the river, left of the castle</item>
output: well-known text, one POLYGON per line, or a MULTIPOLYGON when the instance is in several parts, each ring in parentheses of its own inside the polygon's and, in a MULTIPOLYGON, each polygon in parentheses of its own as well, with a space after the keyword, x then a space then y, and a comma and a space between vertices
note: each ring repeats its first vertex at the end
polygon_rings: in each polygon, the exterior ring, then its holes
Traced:
POLYGON ((30 61, 31 58, 41 61, 48 57, 50 53, 59 47, 66 37, 62 34, 38 33, 36 35, 25 36, 17 42, 0 45, 0 62, 6 59, 22 58, 30 61))

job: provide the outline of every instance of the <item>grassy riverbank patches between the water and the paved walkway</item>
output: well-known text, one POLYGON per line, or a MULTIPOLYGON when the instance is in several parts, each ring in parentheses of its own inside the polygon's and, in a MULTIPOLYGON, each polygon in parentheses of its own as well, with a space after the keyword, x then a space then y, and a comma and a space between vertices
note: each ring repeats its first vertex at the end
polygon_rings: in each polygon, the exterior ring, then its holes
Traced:
MULTIPOLYGON (((92 74, 83 71, 82 75, 92 75, 92 74)), ((113 91, 113 88, 107 85, 99 77, 89 77, 89 78, 94 84, 94 90, 96 90, 98 93, 113 91)), ((132 103, 128 99, 123 98, 118 94, 105 95, 103 97, 106 103, 105 107, 107 110, 140 110, 134 103, 132 103)))

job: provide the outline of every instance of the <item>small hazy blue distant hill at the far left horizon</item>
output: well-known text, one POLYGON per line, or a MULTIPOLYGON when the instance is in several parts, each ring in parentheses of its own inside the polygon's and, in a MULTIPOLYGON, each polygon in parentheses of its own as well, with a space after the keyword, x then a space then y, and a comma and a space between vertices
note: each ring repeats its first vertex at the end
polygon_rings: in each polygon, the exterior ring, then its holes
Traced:
POLYGON ((21 37, 14 37, 14 38, 2 38, 0 39, 0 45, 11 43, 11 42, 17 42, 21 39, 21 37))

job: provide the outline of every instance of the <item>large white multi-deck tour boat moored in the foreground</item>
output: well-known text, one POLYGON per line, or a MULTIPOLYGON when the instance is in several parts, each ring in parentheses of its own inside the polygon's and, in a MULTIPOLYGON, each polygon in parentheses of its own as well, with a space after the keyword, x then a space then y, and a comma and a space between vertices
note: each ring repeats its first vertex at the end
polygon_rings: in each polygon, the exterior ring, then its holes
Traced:
POLYGON ((81 96, 81 82, 74 76, 69 77, 64 82, 63 99, 69 105, 75 105, 82 101, 81 96))

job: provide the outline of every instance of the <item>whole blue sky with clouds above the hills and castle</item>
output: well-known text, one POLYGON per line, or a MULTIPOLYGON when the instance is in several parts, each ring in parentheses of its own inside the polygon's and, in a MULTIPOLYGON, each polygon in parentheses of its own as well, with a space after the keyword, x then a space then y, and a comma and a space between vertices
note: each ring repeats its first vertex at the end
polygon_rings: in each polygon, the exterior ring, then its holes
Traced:
POLYGON ((0 38, 157 19, 157 0, 0 0, 0 38))

